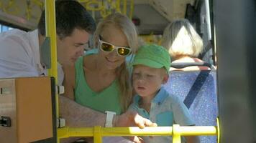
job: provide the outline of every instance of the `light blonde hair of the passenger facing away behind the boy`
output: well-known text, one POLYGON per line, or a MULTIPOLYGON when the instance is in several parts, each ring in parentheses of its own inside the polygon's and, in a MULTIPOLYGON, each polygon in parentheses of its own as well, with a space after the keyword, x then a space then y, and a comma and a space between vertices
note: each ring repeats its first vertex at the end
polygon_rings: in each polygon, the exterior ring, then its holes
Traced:
POLYGON ((168 49, 173 58, 196 57, 203 50, 203 41, 187 19, 179 19, 165 28, 162 46, 168 49))

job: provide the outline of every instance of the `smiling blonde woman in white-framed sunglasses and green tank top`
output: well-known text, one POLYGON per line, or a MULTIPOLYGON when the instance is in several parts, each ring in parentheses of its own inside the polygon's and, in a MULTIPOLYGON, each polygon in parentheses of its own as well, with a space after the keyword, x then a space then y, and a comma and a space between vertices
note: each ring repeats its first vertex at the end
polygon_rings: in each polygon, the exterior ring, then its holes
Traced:
POLYGON ((126 58, 137 51, 137 29, 127 16, 111 14, 98 24, 93 40, 98 52, 64 68, 65 95, 91 109, 122 114, 132 101, 126 58))

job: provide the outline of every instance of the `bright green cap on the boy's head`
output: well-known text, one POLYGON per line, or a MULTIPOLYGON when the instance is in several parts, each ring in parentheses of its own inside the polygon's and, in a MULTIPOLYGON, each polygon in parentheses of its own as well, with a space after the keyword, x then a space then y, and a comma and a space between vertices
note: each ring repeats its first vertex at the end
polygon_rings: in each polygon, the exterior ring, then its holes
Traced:
POLYGON ((132 66, 142 64, 152 68, 164 67, 166 71, 170 69, 170 55, 163 46, 156 44, 147 44, 140 46, 135 54, 132 66))

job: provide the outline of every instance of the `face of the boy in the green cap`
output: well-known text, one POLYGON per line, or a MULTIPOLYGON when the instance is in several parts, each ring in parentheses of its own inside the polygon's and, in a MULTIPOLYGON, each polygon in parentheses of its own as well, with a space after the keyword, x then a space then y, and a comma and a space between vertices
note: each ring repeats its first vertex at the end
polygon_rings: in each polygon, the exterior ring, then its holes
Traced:
POLYGON ((168 81, 165 69, 144 65, 134 66, 132 73, 133 88, 140 97, 154 97, 156 92, 168 81))

